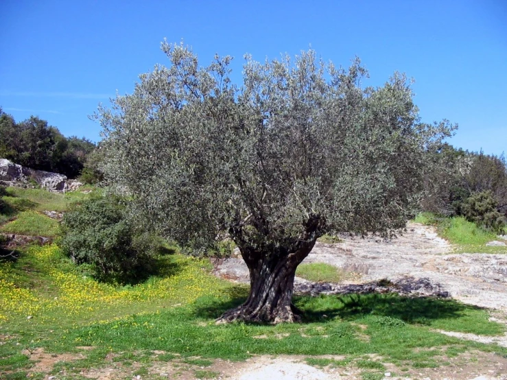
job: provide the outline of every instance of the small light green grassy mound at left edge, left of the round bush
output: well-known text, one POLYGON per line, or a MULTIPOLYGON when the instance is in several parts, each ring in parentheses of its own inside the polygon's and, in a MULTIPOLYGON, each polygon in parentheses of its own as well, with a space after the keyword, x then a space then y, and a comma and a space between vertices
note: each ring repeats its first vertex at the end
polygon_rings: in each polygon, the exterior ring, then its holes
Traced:
POLYGON ((0 227, 3 233, 45 237, 55 237, 59 230, 60 224, 56 220, 35 211, 22 211, 12 222, 0 227))

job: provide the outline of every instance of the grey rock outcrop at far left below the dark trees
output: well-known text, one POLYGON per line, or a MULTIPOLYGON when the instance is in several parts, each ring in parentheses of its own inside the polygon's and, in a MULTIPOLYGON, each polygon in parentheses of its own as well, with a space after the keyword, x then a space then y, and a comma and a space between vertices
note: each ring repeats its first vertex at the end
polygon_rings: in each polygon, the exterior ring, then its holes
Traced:
POLYGON ((63 174, 30 169, 0 158, 0 185, 30 187, 30 180, 43 189, 59 192, 73 191, 82 185, 76 180, 67 180, 67 176, 63 174))

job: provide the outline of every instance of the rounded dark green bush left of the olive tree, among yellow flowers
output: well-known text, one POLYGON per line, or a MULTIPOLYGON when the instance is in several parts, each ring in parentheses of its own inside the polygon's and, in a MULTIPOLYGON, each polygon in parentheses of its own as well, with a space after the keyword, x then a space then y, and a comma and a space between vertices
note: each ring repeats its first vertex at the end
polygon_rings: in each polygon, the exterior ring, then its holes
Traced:
POLYGON ((66 213, 60 246, 101 281, 136 283, 155 269, 156 241, 134 228, 119 198, 86 200, 66 213))

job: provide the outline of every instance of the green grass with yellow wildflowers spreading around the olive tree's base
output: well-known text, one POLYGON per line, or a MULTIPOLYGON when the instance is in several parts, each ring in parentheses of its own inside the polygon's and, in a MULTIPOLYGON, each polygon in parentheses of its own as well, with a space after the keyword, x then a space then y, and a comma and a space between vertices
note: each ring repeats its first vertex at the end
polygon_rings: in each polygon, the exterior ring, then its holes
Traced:
MULTIPOLYGON (((15 191, 5 197, 18 218, 14 222, 24 213, 64 211, 86 196, 15 191)), ((56 244, 20 253, 16 260, 0 261, 1 379, 82 380, 113 373, 117 379, 158 380, 167 379, 161 368, 169 367, 171 378, 204 379, 220 375, 218 359, 285 354, 303 355, 317 367, 356 368, 364 380, 375 380, 386 368, 395 376, 450 366, 462 355, 507 356, 506 348, 436 332, 504 333, 487 310, 453 300, 304 296, 294 300, 304 311, 300 324, 216 325, 221 313, 244 302, 248 288, 213 276, 207 260, 163 254, 157 276, 118 285, 98 283, 56 244)), ((302 266, 301 273, 318 281, 341 278, 335 268, 313 264, 302 266)))

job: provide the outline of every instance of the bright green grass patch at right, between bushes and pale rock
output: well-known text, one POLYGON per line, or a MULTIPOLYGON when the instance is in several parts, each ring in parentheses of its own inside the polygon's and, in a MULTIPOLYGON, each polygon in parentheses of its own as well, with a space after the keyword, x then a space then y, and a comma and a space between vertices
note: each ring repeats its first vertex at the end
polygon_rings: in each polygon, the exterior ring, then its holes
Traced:
POLYGON ((415 222, 436 226, 438 235, 453 244, 456 252, 507 253, 507 247, 486 246, 488 241, 498 240, 497 235, 477 227, 464 217, 438 218, 430 213, 421 213, 415 222))

